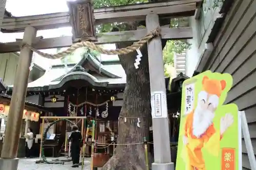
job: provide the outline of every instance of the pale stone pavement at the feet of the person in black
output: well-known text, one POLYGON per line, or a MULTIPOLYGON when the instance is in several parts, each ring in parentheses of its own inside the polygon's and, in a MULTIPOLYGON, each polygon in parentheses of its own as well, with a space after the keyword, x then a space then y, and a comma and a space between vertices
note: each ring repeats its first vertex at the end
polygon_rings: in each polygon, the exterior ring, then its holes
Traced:
MULTIPOLYGON (((51 160, 52 158, 48 158, 48 160, 51 160)), ((54 158, 56 159, 56 158, 54 158)), ((65 158, 58 158, 58 159, 65 159, 65 158)), ((35 161, 39 160, 39 158, 32 158, 32 159, 26 159, 22 158, 19 159, 18 163, 18 170, 76 170, 81 169, 81 166, 79 167, 71 167, 72 162, 65 162, 65 164, 47 164, 47 163, 38 163, 36 164, 35 161)), ((84 170, 90 170, 90 160, 91 158, 85 158, 84 159, 84 170)))

